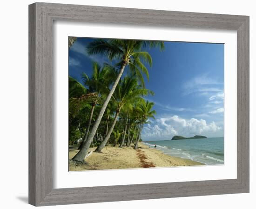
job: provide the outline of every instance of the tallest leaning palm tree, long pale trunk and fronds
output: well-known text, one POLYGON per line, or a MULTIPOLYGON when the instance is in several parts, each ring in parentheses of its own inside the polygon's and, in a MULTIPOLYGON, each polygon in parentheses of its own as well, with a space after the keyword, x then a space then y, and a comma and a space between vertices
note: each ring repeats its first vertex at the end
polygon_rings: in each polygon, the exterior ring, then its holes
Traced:
POLYGON ((128 66, 130 72, 135 73, 136 76, 143 82, 142 73, 145 74, 148 78, 148 69, 141 62, 141 59, 152 65, 152 59, 148 52, 143 52, 142 48, 145 47, 160 47, 164 48, 163 41, 141 41, 141 40, 121 40, 121 39, 96 39, 87 46, 88 54, 102 54, 107 55, 110 60, 119 60, 119 74, 115 80, 115 83, 112 85, 111 90, 101 106, 101 111, 91 129, 91 132, 88 136, 88 140, 82 144, 81 150, 72 158, 76 163, 84 163, 84 158, 88 153, 88 148, 93 141, 94 135, 101 123, 101 118, 108 106, 116 86, 118 85, 119 80, 125 70, 125 67, 128 66))

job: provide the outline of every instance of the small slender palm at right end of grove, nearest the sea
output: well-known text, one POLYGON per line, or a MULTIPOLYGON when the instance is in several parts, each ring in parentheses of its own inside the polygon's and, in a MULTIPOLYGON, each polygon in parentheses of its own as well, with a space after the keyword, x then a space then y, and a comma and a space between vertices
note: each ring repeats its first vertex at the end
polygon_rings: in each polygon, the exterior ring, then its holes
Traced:
POLYGON ((138 132, 138 137, 137 140, 135 142, 135 146, 134 149, 138 148, 138 143, 141 139, 141 132, 143 129, 143 126, 145 123, 147 123, 148 118, 154 118, 154 115, 156 114, 155 110, 152 110, 152 107, 154 106, 153 102, 149 102, 149 101, 145 101, 144 99, 141 101, 141 104, 139 104, 139 109, 140 109, 140 113, 141 113, 141 125, 139 128, 139 132, 138 132))

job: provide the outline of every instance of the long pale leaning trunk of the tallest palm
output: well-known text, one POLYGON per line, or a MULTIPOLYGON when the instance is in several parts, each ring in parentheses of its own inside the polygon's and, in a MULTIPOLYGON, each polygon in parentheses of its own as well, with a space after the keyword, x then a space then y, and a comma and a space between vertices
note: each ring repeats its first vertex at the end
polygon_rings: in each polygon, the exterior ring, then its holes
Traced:
POLYGON ((92 130, 90 131, 90 134, 89 134, 87 140, 82 144, 81 150, 79 150, 79 152, 72 158, 73 161, 78 162, 78 163, 84 163, 85 162, 84 158, 86 157, 86 155, 88 153, 88 149, 89 149, 89 147, 90 147, 90 145, 93 141, 94 135, 95 135, 100 123, 101 123, 101 118, 103 117, 103 114, 104 114, 104 112, 105 112, 105 110, 108 106, 108 103, 109 103, 109 101, 110 101, 110 99, 111 99, 111 97, 112 97, 112 95, 115 91, 115 88, 116 88, 116 86, 117 86, 117 84, 118 84, 118 82, 119 82, 119 80, 120 80, 120 78, 121 78, 121 76, 124 72, 124 68, 125 68, 126 65, 127 65, 126 62, 124 62, 122 64, 119 75, 117 76, 117 78, 115 80, 115 83, 112 86, 112 89, 110 90, 110 92, 108 94, 108 97, 106 98, 105 102, 103 103, 103 105, 101 107, 101 111, 100 111, 100 113, 98 115, 98 118, 96 119, 96 121, 95 121, 95 123, 92 127, 92 130))

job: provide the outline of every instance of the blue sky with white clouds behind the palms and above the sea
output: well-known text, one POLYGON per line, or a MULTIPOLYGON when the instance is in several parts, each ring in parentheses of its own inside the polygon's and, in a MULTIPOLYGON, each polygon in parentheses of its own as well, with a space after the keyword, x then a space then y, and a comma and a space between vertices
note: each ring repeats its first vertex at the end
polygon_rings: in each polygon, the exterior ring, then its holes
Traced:
MULTIPOLYGON (((79 38, 69 49, 69 75, 81 82, 81 73, 92 72, 92 61, 111 62, 104 56, 88 56, 85 46, 93 39, 79 38)), ((165 49, 147 50, 153 60, 146 88, 155 92, 155 120, 142 131, 143 140, 168 140, 174 135, 223 137, 224 45, 171 42, 165 49)))

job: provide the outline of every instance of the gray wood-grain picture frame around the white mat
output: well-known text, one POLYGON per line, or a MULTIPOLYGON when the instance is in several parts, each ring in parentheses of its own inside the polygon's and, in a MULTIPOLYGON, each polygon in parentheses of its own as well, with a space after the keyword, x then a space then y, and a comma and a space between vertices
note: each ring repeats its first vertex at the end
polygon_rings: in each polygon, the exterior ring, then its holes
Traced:
MULTIPOLYGON (((100 171, 99 171, 100 172, 100 171)), ((35 206, 249 192, 249 17, 114 7, 29 5, 29 203, 35 206), (53 21, 237 31, 237 178, 53 189, 53 21)))

